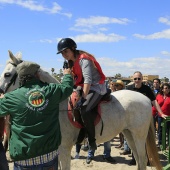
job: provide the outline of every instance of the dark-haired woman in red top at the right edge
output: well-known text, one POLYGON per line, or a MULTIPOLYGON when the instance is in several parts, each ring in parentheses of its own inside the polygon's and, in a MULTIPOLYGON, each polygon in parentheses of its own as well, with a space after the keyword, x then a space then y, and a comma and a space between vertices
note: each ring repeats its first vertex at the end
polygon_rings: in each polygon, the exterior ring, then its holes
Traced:
MULTIPOLYGON (((156 100, 161 107, 161 110, 165 115, 170 116, 170 85, 168 83, 164 83, 161 86, 159 94, 156 96, 156 100)), ((156 108, 152 107, 152 112, 156 113, 156 108)), ((161 114, 158 112, 158 146, 162 144, 162 126, 161 122, 163 118, 161 114)), ((167 128, 170 128, 170 123, 167 123, 167 128)), ((169 140, 168 140, 169 141, 169 140)))

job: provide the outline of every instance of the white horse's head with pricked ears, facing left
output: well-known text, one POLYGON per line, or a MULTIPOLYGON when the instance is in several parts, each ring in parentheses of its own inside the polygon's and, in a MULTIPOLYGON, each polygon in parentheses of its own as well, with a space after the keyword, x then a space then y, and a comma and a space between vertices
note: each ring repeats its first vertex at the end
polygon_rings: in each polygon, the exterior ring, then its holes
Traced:
POLYGON ((10 59, 7 61, 4 71, 0 76, 0 88, 5 92, 12 91, 19 87, 16 66, 22 62, 22 54, 18 52, 15 56, 8 50, 10 59))

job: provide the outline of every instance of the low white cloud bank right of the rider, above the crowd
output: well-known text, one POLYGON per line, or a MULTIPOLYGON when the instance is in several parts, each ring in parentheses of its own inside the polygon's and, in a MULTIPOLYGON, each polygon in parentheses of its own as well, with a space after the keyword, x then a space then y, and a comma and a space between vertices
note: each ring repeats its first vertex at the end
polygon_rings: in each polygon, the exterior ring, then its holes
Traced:
POLYGON ((114 76, 120 73, 122 76, 131 76, 135 71, 143 74, 159 75, 159 78, 168 77, 170 72, 170 58, 144 57, 133 58, 127 62, 120 62, 113 58, 98 58, 106 76, 114 76))

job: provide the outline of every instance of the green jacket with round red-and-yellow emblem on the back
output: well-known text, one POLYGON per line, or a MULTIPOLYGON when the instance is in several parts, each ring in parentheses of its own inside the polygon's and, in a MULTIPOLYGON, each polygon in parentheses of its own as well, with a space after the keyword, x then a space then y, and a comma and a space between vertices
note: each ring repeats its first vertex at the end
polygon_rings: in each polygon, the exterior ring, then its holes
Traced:
POLYGON ((33 79, 0 99, 0 116, 11 116, 9 149, 14 161, 58 149, 61 144, 59 103, 72 90, 73 79, 67 74, 61 84, 33 79))

